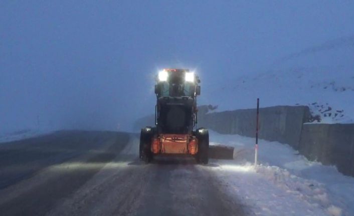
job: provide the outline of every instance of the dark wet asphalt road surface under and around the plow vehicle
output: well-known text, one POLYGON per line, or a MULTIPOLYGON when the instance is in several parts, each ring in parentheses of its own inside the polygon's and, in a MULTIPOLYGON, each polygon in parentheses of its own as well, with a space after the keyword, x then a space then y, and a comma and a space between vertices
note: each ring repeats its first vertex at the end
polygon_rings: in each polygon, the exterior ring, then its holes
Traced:
POLYGON ((1 143, 0 215, 246 215, 193 158, 137 152, 138 136, 119 132, 1 143))

